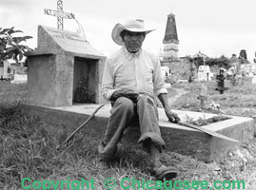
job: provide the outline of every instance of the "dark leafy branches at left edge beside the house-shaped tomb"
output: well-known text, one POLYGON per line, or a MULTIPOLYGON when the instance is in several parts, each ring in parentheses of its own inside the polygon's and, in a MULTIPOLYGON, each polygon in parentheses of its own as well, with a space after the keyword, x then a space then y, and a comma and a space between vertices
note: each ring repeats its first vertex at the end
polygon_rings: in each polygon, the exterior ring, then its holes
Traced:
POLYGON ((30 47, 22 45, 31 36, 14 37, 15 33, 23 32, 22 30, 14 30, 12 28, 0 28, 0 61, 13 59, 18 63, 22 60, 27 51, 32 50, 30 47))

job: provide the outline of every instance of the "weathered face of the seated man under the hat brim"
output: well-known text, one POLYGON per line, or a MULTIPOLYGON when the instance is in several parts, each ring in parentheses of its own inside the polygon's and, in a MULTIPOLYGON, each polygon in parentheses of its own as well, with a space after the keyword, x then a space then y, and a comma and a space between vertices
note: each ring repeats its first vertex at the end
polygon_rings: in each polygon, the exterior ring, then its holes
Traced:
POLYGON ((131 53, 136 53, 142 47, 143 41, 145 39, 144 32, 132 32, 126 31, 123 41, 125 43, 125 47, 127 47, 128 51, 131 53))

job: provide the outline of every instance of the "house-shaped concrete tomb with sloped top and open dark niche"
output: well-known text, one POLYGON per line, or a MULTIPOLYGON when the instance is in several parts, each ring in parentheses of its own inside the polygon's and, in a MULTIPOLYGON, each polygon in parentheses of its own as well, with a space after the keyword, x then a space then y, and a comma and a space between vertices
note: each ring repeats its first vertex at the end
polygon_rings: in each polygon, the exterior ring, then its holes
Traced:
POLYGON ((106 57, 78 33, 38 27, 38 48, 27 54, 28 104, 70 106, 79 82, 85 103, 101 104, 100 82, 106 57))

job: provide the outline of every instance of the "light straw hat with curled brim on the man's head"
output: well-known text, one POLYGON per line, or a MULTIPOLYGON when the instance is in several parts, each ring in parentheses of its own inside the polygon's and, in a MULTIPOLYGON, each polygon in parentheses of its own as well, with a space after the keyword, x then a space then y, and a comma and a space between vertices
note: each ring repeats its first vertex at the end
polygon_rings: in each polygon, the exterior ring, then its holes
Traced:
POLYGON ((111 36, 113 41, 119 46, 124 46, 124 42, 122 40, 120 33, 125 29, 128 31, 134 31, 134 32, 146 32, 146 34, 151 32, 152 30, 155 30, 155 29, 145 28, 144 20, 141 20, 141 19, 128 20, 124 24, 118 23, 113 28, 111 36))

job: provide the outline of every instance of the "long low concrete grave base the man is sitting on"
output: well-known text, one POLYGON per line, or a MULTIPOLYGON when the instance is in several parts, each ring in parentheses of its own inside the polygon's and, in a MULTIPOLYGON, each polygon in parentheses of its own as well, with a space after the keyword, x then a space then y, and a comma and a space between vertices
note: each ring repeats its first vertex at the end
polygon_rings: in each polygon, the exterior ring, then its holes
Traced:
MULTIPOLYGON (((75 104, 73 106, 49 107, 23 104, 23 111, 31 115, 39 116, 47 123, 58 123, 75 129, 79 124, 85 122, 98 106, 99 104, 75 104)), ((93 138, 103 138, 110 115, 110 108, 109 104, 102 107, 97 112, 94 119, 84 128, 89 136, 93 138)), ((181 117, 182 122, 186 122, 187 116, 193 118, 194 121, 199 118, 207 119, 216 116, 214 114, 201 112, 173 111, 181 117)), ((204 127, 236 139, 239 143, 249 141, 253 138, 255 131, 253 119, 235 116, 227 117, 230 119, 218 123, 211 123, 204 127)), ((233 149, 239 144, 237 142, 229 142, 211 137, 206 133, 176 123, 169 123, 167 122, 167 117, 162 108, 159 108, 159 125, 162 137, 167 143, 166 151, 193 156, 201 161, 219 161, 230 149, 233 149)), ((138 131, 138 127, 128 128, 123 141, 137 142, 140 136, 138 131)))

